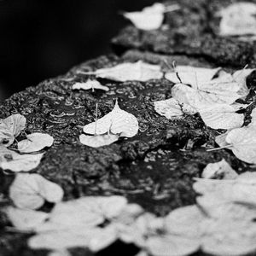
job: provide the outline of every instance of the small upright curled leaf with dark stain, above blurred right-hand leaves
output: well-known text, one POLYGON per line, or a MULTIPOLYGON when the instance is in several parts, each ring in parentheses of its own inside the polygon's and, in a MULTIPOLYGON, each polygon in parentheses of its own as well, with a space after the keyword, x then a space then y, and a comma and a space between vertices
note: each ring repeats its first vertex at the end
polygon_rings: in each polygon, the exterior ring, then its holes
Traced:
POLYGON ((231 168, 226 160, 221 160, 217 163, 208 164, 203 170, 201 177, 216 178, 216 179, 234 179, 238 177, 235 170, 231 168))

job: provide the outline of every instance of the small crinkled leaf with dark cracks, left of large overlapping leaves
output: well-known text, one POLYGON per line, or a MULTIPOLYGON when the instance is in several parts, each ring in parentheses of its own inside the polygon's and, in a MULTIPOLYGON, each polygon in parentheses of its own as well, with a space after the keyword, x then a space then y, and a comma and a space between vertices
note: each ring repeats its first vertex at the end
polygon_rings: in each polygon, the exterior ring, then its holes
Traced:
POLYGON ((195 114, 195 108, 190 107, 188 104, 179 103, 174 98, 165 101, 154 102, 154 110, 166 117, 166 119, 177 119, 186 114, 195 114))

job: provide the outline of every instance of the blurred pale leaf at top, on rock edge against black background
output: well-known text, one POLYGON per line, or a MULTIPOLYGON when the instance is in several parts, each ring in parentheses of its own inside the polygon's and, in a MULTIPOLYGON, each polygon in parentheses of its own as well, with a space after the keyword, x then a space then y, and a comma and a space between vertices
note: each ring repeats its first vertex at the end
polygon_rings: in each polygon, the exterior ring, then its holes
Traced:
POLYGON ((165 6, 162 3, 154 3, 141 12, 124 13, 124 16, 131 20, 138 29, 147 31, 160 28, 164 20, 164 13, 165 6))

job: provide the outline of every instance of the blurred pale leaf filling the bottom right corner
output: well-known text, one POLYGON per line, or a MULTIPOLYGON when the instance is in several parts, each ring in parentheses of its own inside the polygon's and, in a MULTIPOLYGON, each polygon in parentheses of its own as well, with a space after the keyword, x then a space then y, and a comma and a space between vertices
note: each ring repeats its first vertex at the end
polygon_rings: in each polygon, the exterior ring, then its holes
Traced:
POLYGON ((208 220, 201 249, 212 255, 241 256, 256 251, 256 225, 247 221, 208 220))

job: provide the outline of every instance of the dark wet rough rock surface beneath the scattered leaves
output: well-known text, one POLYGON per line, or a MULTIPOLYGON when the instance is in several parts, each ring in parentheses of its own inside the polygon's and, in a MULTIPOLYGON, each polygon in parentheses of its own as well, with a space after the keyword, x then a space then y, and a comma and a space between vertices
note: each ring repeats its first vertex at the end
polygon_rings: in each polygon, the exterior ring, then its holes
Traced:
MULTIPOLYGON (((93 77, 79 71, 112 67, 125 61, 158 63, 163 69, 167 68, 165 61, 197 67, 222 65, 228 71, 246 63, 255 67, 253 44, 213 34, 212 26, 216 25, 215 21, 210 22, 209 15, 212 17, 213 9, 230 1, 210 2, 179 1, 184 8, 177 15, 166 15, 170 29, 139 32, 129 26, 113 39, 116 47, 131 49, 123 55, 101 56, 84 62, 63 76, 29 87, 3 102, 0 118, 12 113, 23 114, 27 119, 26 133, 47 132, 55 138, 53 147, 44 154, 41 164, 33 172, 60 184, 65 189, 65 200, 82 195, 125 195, 130 202, 137 202, 147 211, 164 216, 176 207, 195 202, 193 177, 199 177, 210 162, 224 158, 239 173, 256 171, 255 167, 238 160, 231 151, 207 152, 206 147, 215 146, 214 137, 218 131, 204 125, 199 115, 168 120, 155 113, 153 102, 171 96, 173 84, 166 79, 145 83, 100 79, 109 87, 108 92, 72 90, 75 82, 93 77), (102 148, 89 148, 79 143, 81 126, 94 121, 96 102, 98 115, 102 117, 112 110, 116 98, 120 108, 137 117, 140 127, 137 136, 119 139, 102 148)), ((256 73, 252 73, 247 78, 248 87, 256 86, 255 82, 256 73)), ((255 100, 254 94, 248 98, 255 100)), ((255 105, 253 103, 247 109, 246 116, 255 105)), ((3 207, 9 204, 8 188, 14 176, 3 172, 0 176, 0 206, 3 207)), ((8 220, 0 214, 0 255, 34 255, 35 252, 26 247, 28 235, 15 233, 8 226, 8 220)), ((121 248, 122 255, 137 253, 131 246, 124 250, 125 245, 119 242, 113 247, 121 248)), ((113 254, 111 250, 108 248, 99 255, 113 254)), ((36 253, 44 256, 47 252, 36 253)), ((74 256, 92 255, 85 249, 73 249, 71 253, 74 256)))

